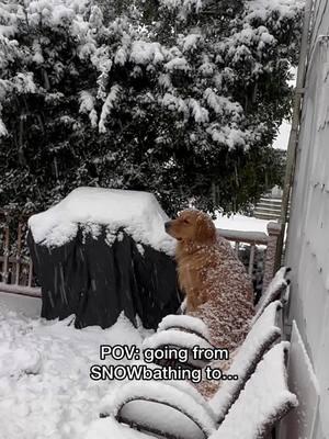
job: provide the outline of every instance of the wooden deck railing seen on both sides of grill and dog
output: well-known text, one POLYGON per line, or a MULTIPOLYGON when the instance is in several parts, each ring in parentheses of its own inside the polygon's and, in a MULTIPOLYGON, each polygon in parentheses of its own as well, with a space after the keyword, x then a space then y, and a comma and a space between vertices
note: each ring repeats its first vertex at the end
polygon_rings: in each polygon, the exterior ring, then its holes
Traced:
MULTIPOLYGON (((33 263, 26 247, 27 218, 13 225, 10 216, 0 211, 0 291, 41 296, 41 289, 35 284, 33 263)), ((254 264, 257 247, 265 249, 263 289, 268 286, 275 272, 276 247, 280 235, 280 225, 269 223, 268 234, 260 232, 242 232, 218 229, 218 233, 232 243, 235 251, 239 254, 242 246, 250 246, 248 272, 251 275, 254 264)))

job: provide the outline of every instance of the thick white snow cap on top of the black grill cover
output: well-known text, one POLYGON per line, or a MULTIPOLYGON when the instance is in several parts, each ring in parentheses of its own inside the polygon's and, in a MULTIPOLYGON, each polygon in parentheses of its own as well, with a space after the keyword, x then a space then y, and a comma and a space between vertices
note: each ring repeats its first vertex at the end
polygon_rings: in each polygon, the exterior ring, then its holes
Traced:
POLYGON ((111 244, 118 229, 134 240, 172 255, 174 239, 164 232, 168 216, 151 193, 101 188, 78 188, 49 210, 29 219, 35 243, 59 247, 84 225, 97 238, 106 227, 111 244))

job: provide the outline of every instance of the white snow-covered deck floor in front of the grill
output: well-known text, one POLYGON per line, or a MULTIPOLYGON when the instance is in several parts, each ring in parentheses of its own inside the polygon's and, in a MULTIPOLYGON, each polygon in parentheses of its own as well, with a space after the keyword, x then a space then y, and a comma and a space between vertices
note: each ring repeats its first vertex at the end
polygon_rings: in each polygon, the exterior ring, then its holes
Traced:
POLYGON ((101 344, 140 346, 141 331, 125 318, 78 330, 38 313, 38 300, 0 293, 0 438, 140 438, 99 418, 122 383, 92 381, 89 369, 101 363, 101 344))

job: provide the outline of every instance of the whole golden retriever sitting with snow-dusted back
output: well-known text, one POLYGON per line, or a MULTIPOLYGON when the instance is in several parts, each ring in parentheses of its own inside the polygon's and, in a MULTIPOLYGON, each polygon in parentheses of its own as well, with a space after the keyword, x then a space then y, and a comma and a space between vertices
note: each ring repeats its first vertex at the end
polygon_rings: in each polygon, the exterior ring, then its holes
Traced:
POLYGON ((200 317, 212 342, 232 352, 246 338, 253 315, 251 281, 211 217, 189 209, 164 224, 178 240, 178 278, 186 314, 200 317))

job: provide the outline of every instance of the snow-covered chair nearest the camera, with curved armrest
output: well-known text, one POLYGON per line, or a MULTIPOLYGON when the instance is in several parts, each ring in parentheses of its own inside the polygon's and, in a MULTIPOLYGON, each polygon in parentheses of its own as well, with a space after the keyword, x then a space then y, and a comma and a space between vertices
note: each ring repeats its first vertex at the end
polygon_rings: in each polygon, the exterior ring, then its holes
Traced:
POLYGON ((297 405, 286 384, 287 349, 283 341, 265 353, 222 420, 192 386, 156 381, 124 385, 112 416, 144 434, 170 439, 265 438, 297 405))

